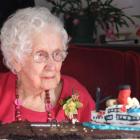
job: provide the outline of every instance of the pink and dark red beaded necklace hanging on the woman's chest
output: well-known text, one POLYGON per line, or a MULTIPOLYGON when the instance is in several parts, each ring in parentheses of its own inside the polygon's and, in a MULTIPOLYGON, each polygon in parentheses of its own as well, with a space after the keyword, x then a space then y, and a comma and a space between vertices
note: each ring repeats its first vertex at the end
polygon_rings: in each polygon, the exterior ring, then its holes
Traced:
MULTIPOLYGON (((16 99, 15 99, 15 119, 16 121, 22 121, 22 114, 21 114, 21 101, 19 99, 19 95, 16 92, 16 99)), ((53 105, 50 101, 50 93, 49 90, 45 91, 45 111, 46 111, 46 122, 50 122, 52 120, 51 110, 53 109, 53 105)))

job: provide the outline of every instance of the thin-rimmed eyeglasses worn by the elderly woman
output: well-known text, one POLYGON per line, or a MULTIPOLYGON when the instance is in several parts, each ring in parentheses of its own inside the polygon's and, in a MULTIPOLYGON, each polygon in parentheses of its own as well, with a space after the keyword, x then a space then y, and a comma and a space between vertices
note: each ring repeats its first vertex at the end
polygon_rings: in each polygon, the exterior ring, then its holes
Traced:
POLYGON ((36 63, 44 63, 47 62, 49 59, 49 55, 52 56, 53 60, 56 62, 63 62, 67 56, 68 52, 65 50, 56 50, 52 52, 52 54, 49 54, 48 52, 45 51, 37 51, 33 55, 33 59, 36 63))

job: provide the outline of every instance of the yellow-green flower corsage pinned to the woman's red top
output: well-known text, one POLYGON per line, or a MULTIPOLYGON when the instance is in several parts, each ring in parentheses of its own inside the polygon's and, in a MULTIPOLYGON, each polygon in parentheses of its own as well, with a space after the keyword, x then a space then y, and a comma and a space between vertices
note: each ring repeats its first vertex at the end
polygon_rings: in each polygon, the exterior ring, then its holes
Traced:
POLYGON ((78 114, 78 109, 83 106, 79 100, 79 94, 77 91, 72 91, 72 96, 65 100, 60 100, 60 105, 62 105, 65 115, 70 119, 74 119, 75 115, 78 114))

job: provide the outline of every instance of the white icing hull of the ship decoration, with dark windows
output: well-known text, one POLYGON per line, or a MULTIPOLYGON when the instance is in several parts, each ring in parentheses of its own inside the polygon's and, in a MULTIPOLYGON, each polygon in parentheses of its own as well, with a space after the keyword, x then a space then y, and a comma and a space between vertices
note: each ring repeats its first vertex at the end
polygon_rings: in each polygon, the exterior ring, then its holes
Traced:
POLYGON ((91 119, 97 123, 140 124, 140 106, 138 104, 135 107, 130 107, 129 105, 109 106, 105 111, 92 111, 91 119), (129 109, 131 109, 131 111, 128 113, 129 109))

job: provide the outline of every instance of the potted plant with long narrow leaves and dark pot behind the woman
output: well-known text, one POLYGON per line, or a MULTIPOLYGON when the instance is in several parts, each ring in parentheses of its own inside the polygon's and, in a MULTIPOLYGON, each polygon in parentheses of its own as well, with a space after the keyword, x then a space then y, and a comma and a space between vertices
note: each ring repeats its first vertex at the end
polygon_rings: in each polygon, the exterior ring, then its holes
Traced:
POLYGON ((46 0, 52 4, 52 13, 63 14, 64 24, 73 42, 91 43, 98 35, 98 27, 105 34, 119 33, 122 26, 134 24, 123 8, 113 5, 113 0, 46 0), (85 27, 84 27, 85 26, 85 27))

